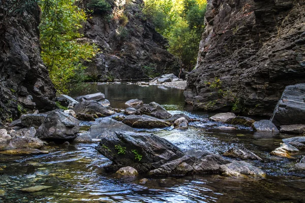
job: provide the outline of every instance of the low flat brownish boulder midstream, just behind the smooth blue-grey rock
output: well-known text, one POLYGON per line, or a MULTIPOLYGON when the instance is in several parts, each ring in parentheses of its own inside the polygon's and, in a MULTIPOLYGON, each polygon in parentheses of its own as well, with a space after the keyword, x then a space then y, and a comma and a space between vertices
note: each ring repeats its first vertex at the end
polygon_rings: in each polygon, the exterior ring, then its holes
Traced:
POLYGON ((130 115, 122 122, 136 128, 163 128, 170 126, 169 122, 147 115, 130 115))

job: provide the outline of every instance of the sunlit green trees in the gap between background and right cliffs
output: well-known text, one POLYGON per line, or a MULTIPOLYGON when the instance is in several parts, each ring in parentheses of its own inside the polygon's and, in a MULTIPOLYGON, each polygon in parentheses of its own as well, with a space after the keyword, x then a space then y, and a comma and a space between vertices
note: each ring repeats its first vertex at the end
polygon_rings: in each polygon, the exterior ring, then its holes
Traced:
POLYGON ((144 14, 169 41, 168 50, 184 65, 196 64, 203 31, 205 0, 145 0, 144 14))

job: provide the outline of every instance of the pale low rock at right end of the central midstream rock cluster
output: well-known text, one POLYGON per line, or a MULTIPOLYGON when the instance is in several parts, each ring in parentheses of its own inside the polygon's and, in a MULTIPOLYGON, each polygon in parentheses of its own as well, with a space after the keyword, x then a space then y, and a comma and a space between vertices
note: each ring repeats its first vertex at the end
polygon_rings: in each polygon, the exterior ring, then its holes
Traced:
POLYGON ((265 178, 266 174, 258 167, 245 161, 233 161, 231 163, 221 165, 220 172, 222 175, 236 178, 257 177, 265 178))

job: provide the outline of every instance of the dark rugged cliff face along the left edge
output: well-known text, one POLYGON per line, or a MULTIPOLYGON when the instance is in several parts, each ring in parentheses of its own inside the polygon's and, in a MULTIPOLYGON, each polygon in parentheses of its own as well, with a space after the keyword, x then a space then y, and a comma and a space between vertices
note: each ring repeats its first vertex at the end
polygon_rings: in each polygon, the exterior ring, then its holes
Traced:
POLYGON ((55 89, 40 57, 39 16, 37 4, 22 14, 0 16, 0 121, 55 105, 55 89))

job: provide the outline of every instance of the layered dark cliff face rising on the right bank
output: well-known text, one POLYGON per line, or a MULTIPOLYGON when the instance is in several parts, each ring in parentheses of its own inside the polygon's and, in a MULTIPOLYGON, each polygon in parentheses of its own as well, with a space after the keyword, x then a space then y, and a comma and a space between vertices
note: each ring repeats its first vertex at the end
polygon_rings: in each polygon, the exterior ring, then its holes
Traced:
POLYGON ((208 0, 186 101, 270 116, 285 86, 305 82, 305 1, 208 0))

